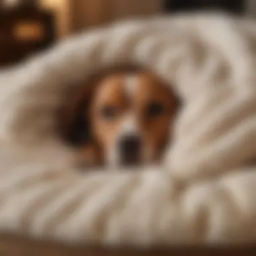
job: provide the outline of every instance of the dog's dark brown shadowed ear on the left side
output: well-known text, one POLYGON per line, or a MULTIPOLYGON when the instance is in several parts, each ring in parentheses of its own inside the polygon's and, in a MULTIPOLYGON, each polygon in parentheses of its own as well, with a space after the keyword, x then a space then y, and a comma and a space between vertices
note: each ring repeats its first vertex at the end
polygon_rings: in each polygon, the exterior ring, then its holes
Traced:
POLYGON ((90 121, 86 112, 96 88, 96 78, 69 93, 61 109, 61 136, 71 146, 84 146, 92 141, 90 121))

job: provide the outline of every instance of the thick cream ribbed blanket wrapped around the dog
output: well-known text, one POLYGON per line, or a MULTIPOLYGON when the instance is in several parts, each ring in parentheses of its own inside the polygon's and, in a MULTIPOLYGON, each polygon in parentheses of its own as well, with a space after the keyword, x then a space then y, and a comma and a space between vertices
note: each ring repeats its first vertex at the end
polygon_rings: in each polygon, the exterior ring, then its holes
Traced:
MULTIPOLYGON (((256 239, 256 24, 198 13, 111 24, 0 73, 0 230, 69 245, 256 239), (183 107, 161 166, 77 170, 57 117, 74 86, 151 69, 183 107)), ((39 255, 39 254, 34 254, 39 255)))

